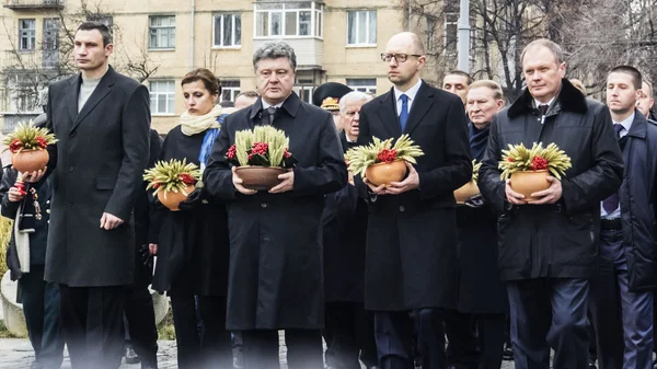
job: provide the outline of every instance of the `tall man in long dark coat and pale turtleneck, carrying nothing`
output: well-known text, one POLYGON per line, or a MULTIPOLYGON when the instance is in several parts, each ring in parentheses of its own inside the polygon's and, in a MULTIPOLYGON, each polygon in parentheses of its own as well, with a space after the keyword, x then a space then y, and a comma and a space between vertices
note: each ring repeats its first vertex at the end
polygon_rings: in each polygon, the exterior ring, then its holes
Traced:
POLYGON ((149 158, 149 93, 108 65, 97 22, 74 38, 78 76, 50 85, 54 193, 45 278, 58 282, 73 368, 118 368, 124 292, 135 274, 132 208, 149 158))

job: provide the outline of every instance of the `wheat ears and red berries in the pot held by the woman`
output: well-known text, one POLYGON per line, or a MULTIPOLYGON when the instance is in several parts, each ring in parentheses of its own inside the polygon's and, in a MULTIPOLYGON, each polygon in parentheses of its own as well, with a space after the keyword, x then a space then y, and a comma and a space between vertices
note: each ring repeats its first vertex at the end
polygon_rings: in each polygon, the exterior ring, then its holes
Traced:
POLYGON ((155 166, 146 170, 143 181, 148 182, 146 189, 154 189, 154 194, 161 191, 181 192, 185 196, 188 186, 195 186, 200 181, 200 170, 194 163, 187 163, 186 159, 159 161, 155 166))

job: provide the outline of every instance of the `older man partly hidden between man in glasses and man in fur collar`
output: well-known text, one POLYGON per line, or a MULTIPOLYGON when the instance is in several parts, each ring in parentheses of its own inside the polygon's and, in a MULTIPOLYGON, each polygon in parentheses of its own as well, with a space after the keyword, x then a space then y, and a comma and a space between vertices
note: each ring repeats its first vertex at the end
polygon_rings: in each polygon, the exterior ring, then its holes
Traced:
MULTIPOLYGON (((504 106, 497 82, 482 80, 468 90, 470 150, 484 157, 493 116, 504 106)), ((479 369, 499 369, 503 359, 507 295, 497 270, 497 229, 491 207, 477 195, 457 209, 459 229, 459 313, 471 314, 480 347, 479 369)))

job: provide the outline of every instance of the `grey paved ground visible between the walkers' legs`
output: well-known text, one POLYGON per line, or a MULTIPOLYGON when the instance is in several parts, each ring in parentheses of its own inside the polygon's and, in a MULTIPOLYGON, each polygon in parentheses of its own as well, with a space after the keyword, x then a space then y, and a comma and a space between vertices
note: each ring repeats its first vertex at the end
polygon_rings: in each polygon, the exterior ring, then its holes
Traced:
MULTIPOLYGON (((175 342, 160 341, 158 342, 160 349, 158 351, 158 366, 160 369, 177 368, 175 361, 175 342)), ((286 369, 285 365, 285 348, 281 349, 281 369, 286 369)), ((30 364, 34 358, 32 346, 27 339, 0 339, 0 368, 11 369, 28 369, 30 364)), ((65 351, 65 360, 62 369, 70 369, 68 353, 65 351)), ((139 365, 123 365, 122 369, 139 369, 139 365)), ((504 361, 502 369, 514 369, 510 361, 504 361)))

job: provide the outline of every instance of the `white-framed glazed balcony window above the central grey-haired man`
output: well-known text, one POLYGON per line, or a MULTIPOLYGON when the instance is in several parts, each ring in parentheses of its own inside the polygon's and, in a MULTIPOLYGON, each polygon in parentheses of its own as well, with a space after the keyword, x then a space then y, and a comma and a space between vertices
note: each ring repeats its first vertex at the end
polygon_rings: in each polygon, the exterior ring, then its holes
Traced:
POLYGON ((324 36, 324 4, 316 0, 308 1, 295 1, 295 2, 281 2, 281 3, 254 3, 253 5, 253 39, 279 39, 279 38, 296 38, 296 39, 308 39, 318 38, 323 39, 324 36), (310 8, 298 8, 296 4, 310 2, 310 8), (262 7, 264 9, 258 9, 262 7), (270 8, 270 9, 266 9, 270 8), (308 35, 300 35, 301 30, 301 13, 310 13, 310 21, 308 23, 308 35), (273 14, 280 14, 280 32, 277 35, 273 35, 273 14), (287 33, 287 15, 288 13, 295 14, 295 34, 288 35, 287 33), (265 25, 267 27, 265 34, 258 35, 258 15, 263 14, 266 16, 265 25))

